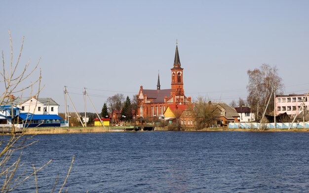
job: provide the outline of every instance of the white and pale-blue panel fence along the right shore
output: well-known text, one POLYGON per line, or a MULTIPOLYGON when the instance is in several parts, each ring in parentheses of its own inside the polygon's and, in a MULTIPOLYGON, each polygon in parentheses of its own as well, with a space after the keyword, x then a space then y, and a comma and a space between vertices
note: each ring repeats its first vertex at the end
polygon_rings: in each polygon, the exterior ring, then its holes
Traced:
MULTIPOLYGON (((274 123, 262 123, 260 127, 260 123, 229 123, 229 128, 230 129, 237 129, 237 128, 242 128, 242 129, 259 129, 259 128, 265 128, 265 129, 289 129, 292 123, 276 123, 276 127, 274 123)), ((300 123, 293 123, 291 128, 299 128, 299 129, 304 129, 304 128, 309 128, 309 123, 305 122, 300 122, 300 123)))

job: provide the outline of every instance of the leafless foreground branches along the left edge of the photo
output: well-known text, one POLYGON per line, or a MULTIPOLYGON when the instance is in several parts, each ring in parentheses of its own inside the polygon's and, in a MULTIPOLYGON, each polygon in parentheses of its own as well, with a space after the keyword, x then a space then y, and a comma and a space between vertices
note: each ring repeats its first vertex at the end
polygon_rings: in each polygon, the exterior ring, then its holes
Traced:
MULTIPOLYGON (((14 63, 13 57, 13 44, 11 33, 9 32, 9 39, 10 39, 10 59, 8 63, 5 63, 4 53, 2 51, 2 71, 0 71, 0 84, 3 88, 3 93, 0 95, 0 107, 3 106, 10 106, 10 116, 9 119, 11 121, 11 130, 10 130, 10 137, 7 139, 2 139, 0 141, 0 191, 1 192, 11 192, 16 187, 20 186, 30 177, 35 178, 35 186, 38 192, 38 185, 37 185, 37 173, 43 169, 47 164, 51 162, 48 161, 43 166, 38 168, 33 165, 33 172, 20 172, 21 175, 16 176, 16 172, 20 169, 21 163, 21 153, 17 156, 16 159, 13 159, 13 154, 16 154, 18 150, 21 150, 36 141, 31 140, 29 136, 26 135, 26 131, 28 128, 22 128, 21 133, 16 134, 17 125, 19 123, 19 117, 13 113, 14 105, 16 103, 16 98, 13 95, 19 95, 20 97, 23 96, 25 92, 29 92, 30 96, 36 95, 39 96, 39 91, 41 89, 41 73, 39 70, 39 75, 35 79, 31 79, 32 75, 38 69, 38 63, 31 67, 30 61, 24 66, 20 67, 20 59, 23 50, 24 38, 22 39, 21 49, 19 55, 17 57, 16 62, 14 63), (30 82, 29 84, 26 84, 30 82), (24 86, 23 86, 24 85, 24 86), (37 92, 34 92, 34 87, 38 87, 37 92)), ((20 130, 19 130, 20 131, 20 130)), ((16 157, 16 156, 15 156, 16 157)), ((72 160, 72 164, 74 161, 74 157, 72 160)), ((72 164, 70 166, 68 175, 72 168, 72 164)), ((67 176, 68 177, 68 176, 67 176)), ((67 180, 67 179, 66 179, 67 180)), ((57 184, 57 182, 56 182, 57 184)), ((63 183, 63 186, 66 184, 66 181, 63 183)), ((62 186, 62 188, 63 188, 62 186)), ((62 189, 61 188, 61 189, 62 189)), ((60 190, 61 192, 61 190, 60 190)))

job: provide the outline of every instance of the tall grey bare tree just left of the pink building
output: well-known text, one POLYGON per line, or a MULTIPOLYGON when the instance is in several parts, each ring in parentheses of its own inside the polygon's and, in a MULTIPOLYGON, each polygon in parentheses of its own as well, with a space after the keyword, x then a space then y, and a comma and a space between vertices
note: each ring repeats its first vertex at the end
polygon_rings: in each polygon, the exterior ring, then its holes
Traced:
MULTIPOLYGON (((256 114, 257 120, 259 120, 266 108, 267 101, 273 88, 276 89, 276 94, 281 94, 284 85, 282 79, 278 75, 278 68, 276 66, 270 67, 269 64, 262 64, 260 69, 249 69, 247 74, 249 78, 247 85, 247 101, 252 111, 256 114)), ((273 112, 273 106, 274 103, 272 99, 267 109, 268 113, 273 112)))

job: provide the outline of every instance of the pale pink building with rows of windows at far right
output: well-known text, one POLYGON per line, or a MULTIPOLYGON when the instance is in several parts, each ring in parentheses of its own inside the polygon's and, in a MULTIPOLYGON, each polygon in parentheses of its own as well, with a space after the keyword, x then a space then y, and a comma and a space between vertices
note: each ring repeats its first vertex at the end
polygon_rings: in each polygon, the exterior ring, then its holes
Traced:
POLYGON ((300 113, 303 109, 307 110, 309 107, 308 97, 306 95, 280 95, 275 98, 275 112, 276 115, 287 113, 290 117, 300 113), (304 107, 301 109, 304 100, 304 107))

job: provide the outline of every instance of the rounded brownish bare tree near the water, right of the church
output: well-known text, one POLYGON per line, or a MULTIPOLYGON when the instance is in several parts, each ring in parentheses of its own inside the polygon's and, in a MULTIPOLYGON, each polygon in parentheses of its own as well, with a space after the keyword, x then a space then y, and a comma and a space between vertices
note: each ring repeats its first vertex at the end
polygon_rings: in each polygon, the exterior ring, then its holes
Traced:
POLYGON ((201 96, 198 96, 197 100, 191 109, 196 128, 202 129, 216 124, 220 118, 217 105, 206 102, 201 96))

